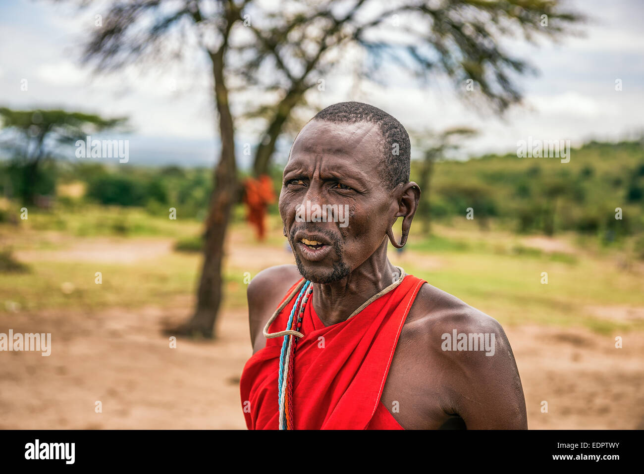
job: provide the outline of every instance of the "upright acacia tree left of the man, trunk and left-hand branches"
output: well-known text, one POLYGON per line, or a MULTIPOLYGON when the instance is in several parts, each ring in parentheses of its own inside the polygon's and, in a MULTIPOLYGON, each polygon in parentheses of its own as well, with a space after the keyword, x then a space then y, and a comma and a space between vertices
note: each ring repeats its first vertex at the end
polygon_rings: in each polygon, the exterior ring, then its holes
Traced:
MULTIPOLYGON (((214 189, 205 220, 204 263, 193 317, 173 334, 213 337, 222 301, 225 233, 238 191, 234 124, 227 87, 232 30, 248 1, 115 1, 102 26, 90 34, 83 61, 95 71, 117 71, 128 64, 183 59, 197 50, 207 58, 213 79, 221 149, 213 172, 214 189)), ((86 5, 86 3, 84 3, 86 5)))

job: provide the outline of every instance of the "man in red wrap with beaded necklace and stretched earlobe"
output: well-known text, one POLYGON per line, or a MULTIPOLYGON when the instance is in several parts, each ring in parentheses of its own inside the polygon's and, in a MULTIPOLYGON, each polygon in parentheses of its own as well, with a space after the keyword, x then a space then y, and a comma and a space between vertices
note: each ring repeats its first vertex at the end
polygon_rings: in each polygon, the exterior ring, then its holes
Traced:
POLYGON ((418 206, 409 173, 406 130, 373 106, 334 104, 299 132, 279 195, 297 265, 248 289, 249 428, 527 428, 498 322, 387 258, 418 206))

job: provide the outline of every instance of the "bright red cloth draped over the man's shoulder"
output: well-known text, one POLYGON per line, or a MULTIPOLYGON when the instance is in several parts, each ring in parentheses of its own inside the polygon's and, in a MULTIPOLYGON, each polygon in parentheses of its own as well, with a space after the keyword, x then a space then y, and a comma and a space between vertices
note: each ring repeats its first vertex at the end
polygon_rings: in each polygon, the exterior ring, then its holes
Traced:
MULTIPOLYGON (((305 337, 299 339, 295 352, 296 430, 402 429, 380 399, 404 320, 423 283, 408 275, 354 318, 328 327, 308 302, 300 331, 305 337)), ((279 313, 269 333, 285 329, 295 300, 296 296, 279 313)), ((282 342, 283 337, 267 339, 265 348, 252 355, 243 369, 240 392, 250 430, 279 428, 282 342)))

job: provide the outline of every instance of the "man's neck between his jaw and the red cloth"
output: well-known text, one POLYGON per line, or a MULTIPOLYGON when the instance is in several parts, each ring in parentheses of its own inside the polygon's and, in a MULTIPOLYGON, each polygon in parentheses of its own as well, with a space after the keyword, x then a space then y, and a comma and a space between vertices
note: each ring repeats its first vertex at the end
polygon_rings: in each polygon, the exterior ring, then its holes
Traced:
POLYGON ((346 321, 365 301, 395 280, 396 267, 387 258, 387 241, 346 278, 314 283, 312 304, 325 326, 346 321))

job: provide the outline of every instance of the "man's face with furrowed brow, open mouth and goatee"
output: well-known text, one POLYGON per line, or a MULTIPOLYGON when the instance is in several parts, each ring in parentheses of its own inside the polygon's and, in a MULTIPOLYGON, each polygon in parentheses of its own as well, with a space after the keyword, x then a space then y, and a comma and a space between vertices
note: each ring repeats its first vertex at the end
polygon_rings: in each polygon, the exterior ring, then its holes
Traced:
POLYGON ((383 243, 397 205, 377 172, 382 140, 376 124, 321 120, 308 122, 296 138, 284 168, 279 214, 307 280, 341 280, 383 243))

